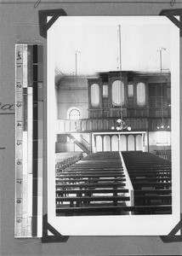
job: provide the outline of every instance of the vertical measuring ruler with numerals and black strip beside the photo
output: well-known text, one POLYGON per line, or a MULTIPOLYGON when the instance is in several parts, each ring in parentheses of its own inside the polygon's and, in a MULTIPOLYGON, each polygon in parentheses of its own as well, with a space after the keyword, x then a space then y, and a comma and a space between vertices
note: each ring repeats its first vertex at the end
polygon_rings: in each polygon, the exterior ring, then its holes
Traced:
POLYGON ((42 236, 43 52, 38 49, 15 47, 15 237, 42 236))

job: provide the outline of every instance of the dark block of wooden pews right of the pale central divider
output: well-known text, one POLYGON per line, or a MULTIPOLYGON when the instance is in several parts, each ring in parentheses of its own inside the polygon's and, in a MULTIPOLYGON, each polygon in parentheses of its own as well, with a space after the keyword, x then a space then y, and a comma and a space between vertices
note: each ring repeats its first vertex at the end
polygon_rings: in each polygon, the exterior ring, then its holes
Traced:
POLYGON ((134 186, 135 214, 171 213, 171 164, 151 153, 126 152, 122 156, 134 186), (156 208, 149 211, 146 206, 156 208))

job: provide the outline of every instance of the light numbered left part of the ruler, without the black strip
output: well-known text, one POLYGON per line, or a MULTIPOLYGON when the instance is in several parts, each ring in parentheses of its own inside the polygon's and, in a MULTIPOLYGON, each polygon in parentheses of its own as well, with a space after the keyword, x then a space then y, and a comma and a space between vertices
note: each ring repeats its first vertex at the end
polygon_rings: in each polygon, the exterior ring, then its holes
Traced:
MULTIPOLYGON (((17 44, 15 54, 16 91, 16 163, 15 163, 15 236, 31 236, 31 226, 27 227, 28 215, 28 170, 27 170, 27 44, 17 44)), ((32 119, 30 119, 32 123, 32 119)), ((31 131, 32 132, 32 131, 31 131)), ((31 138, 30 138, 31 140, 31 138)), ((32 161, 32 160, 31 160, 32 161)), ((32 186, 32 183, 31 183, 32 186)), ((29 195, 29 197, 32 195, 29 195)), ((30 212, 29 212, 30 213, 30 212)), ((32 213, 31 213, 32 215, 32 213)))

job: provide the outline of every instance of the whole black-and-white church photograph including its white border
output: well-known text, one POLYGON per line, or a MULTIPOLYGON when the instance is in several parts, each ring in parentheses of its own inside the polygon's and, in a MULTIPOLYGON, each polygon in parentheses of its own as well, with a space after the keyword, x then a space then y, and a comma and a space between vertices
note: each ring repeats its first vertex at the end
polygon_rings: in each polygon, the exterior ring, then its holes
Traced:
POLYGON ((62 230, 170 230, 179 214, 178 44, 164 17, 61 17, 51 27, 48 209, 62 230))

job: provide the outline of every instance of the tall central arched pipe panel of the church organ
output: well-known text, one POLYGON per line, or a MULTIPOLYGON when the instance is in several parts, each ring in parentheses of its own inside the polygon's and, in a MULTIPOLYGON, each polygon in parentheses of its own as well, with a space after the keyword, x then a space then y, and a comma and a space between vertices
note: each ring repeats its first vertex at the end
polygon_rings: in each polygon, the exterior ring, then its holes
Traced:
POLYGON ((120 80, 112 83, 112 104, 114 107, 124 104, 124 84, 120 80))

